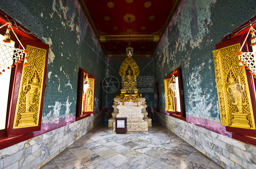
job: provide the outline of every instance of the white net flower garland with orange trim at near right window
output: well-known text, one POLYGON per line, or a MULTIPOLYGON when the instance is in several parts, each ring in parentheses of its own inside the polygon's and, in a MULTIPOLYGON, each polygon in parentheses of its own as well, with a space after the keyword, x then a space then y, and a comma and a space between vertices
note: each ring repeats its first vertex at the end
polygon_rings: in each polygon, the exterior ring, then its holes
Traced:
POLYGON ((250 26, 251 27, 246 35, 246 38, 243 41, 240 50, 235 55, 238 56, 239 59, 239 68, 246 67, 246 69, 249 69, 249 72, 252 73, 253 77, 256 78, 256 52, 242 52, 242 48, 245 44, 246 39, 249 36, 249 33, 252 36, 251 46, 256 45, 255 29, 252 27, 252 24, 250 24, 250 26))

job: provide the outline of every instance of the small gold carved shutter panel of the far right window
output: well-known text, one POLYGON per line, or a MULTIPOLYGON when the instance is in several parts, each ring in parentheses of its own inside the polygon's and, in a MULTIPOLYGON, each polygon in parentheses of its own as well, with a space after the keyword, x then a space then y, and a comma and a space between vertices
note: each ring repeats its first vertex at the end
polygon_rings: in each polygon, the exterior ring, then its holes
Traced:
POLYGON ((172 78, 165 79, 164 81, 164 96, 165 96, 165 110, 166 111, 176 111, 174 105, 174 93, 171 89, 168 88, 168 83, 172 83, 172 78))

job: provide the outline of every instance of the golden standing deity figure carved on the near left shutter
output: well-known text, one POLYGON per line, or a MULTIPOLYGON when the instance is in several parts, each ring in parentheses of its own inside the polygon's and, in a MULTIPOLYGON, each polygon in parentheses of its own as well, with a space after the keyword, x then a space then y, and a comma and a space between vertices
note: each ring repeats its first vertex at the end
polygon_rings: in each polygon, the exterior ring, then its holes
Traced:
POLYGON ((38 83, 38 78, 36 78, 36 76, 32 79, 32 82, 33 83, 29 83, 28 78, 27 84, 23 86, 23 91, 26 94, 26 112, 31 112, 30 107, 31 105, 35 104, 35 102, 33 102, 33 100, 35 99, 35 91, 37 89, 36 94, 39 94, 41 89, 38 83))

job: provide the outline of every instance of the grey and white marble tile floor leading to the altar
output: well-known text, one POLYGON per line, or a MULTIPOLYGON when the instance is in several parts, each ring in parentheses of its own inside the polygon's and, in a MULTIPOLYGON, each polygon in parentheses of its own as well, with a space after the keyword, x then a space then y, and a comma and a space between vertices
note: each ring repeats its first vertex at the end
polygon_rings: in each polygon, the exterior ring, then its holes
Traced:
POLYGON ((106 122, 93 128, 41 169, 221 168, 155 121, 148 132, 112 130, 106 122))

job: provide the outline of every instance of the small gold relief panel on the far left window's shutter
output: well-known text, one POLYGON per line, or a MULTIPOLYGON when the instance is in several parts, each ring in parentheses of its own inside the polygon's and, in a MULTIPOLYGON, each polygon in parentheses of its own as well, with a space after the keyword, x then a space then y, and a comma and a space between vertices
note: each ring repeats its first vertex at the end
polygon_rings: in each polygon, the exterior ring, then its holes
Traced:
POLYGON ((90 83, 90 89, 85 94, 85 108, 84 112, 92 112, 93 111, 93 103, 94 103, 94 80, 88 78, 89 83, 90 83))

